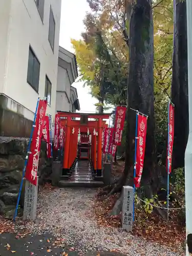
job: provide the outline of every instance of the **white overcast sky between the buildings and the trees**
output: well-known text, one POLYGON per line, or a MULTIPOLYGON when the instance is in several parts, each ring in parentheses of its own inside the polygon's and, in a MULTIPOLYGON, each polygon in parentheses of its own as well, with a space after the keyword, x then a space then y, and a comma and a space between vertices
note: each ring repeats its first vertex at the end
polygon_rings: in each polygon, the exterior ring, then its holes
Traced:
MULTIPOLYGON (((89 5, 86 0, 62 0, 60 39, 59 45, 66 50, 73 52, 71 38, 80 39, 84 30, 83 18, 89 11, 89 5)), ((77 88, 80 112, 95 112, 95 103, 97 100, 89 94, 89 89, 83 88, 82 82, 73 83, 77 88)))

